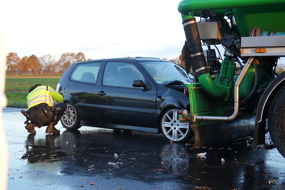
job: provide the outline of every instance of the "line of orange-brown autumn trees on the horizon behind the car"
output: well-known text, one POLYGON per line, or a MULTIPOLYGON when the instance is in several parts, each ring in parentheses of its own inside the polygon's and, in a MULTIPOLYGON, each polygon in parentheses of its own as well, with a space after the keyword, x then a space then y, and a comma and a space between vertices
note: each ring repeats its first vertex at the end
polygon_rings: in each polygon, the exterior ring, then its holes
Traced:
MULTIPOLYGON (((62 75, 72 63, 78 61, 86 61, 84 53, 64 52, 59 60, 56 60, 52 54, 42 57, 33 54, 20 58, 17 53, 11 52, 6 56, 6 75, 62 75)), ((170 61, 182 65, 179 57, 170 61)))

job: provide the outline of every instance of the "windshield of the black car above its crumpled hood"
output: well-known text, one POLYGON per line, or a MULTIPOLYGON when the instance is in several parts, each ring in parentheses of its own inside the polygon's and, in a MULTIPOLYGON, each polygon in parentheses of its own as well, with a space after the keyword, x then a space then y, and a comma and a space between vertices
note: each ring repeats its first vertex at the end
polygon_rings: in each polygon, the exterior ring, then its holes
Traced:
POLYGON ((192 82, 192 79, 187 75, 184 68, 175 63, 166 61, 142 61, 141 64, 157 84, 164 85, 175 80, 192 82))

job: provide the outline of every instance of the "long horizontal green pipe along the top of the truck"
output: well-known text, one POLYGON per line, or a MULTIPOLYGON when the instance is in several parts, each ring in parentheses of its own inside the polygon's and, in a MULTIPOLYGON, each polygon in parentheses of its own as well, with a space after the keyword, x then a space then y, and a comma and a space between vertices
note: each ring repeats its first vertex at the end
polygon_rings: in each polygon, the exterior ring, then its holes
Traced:
POLYGON ((182 0, 178 4, 178 11, 180 13, 186 13, 213 9, 232 9, 284 4, 284 0, 182 0))

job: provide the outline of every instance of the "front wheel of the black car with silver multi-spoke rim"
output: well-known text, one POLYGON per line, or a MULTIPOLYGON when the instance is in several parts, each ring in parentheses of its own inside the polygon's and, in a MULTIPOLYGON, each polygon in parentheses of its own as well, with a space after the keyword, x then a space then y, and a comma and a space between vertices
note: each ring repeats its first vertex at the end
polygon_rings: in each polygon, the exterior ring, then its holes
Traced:
POLYGON ((189 122, 179 123, 179 110, 177 108, 169 108, 163 112, 160 120, 160 130, 163 136, 173 142, 185 142, 194 137, 189 122))

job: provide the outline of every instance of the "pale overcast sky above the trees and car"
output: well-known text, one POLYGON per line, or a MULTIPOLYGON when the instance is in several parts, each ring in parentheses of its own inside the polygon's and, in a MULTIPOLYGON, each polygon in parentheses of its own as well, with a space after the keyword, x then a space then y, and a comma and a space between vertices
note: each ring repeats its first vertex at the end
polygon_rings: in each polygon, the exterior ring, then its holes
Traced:
POLYGON ((19 57, 83 52, 86 58, 179 56, 180 0, 15 1, 0 3, 5 51, 19 57))

